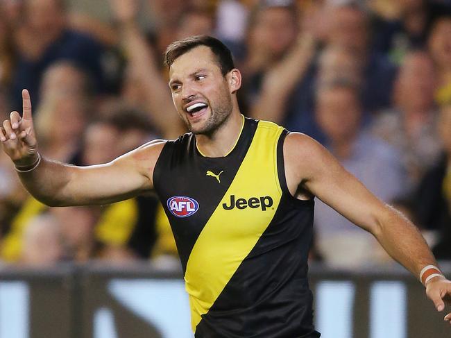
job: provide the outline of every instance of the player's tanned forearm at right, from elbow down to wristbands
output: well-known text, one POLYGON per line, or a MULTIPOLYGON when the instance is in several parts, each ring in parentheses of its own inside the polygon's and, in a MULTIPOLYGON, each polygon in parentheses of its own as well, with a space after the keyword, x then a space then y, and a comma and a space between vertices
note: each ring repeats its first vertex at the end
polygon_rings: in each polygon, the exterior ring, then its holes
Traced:
POLYGON ((416 278, 419 279, 423 267, 437 265, 418 228, 398 210, 387 205, 386 213, 380 217, 378 225, 378 230, 373 235, 386 252, 416 278))

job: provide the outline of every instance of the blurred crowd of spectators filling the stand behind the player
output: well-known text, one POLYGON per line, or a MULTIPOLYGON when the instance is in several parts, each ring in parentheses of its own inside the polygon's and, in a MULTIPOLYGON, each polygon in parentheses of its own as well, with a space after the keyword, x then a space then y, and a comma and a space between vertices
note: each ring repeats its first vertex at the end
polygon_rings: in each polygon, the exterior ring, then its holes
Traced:
MULTIPOLYGON (((185 133, 162 56, 214 35, 243 74, 244 115, 314 137, 451 259, 451 1, 1 0, 0 13, 0 119, 27 88, 47 158, 99 164, 185 133)), ((312 261, 393 264, 371 235, 315 208, 312 261)), ((156 196, 48 208, 1 152, 0 263, 90 260, 179 267, 156 196)))

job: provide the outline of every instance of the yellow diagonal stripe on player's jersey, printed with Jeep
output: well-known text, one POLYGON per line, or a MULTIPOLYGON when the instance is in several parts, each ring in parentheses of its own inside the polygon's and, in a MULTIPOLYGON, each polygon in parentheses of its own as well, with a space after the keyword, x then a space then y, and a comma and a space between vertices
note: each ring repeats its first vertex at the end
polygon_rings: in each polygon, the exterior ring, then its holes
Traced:
POLYGON ((278 209, 282 189, 277 144, 282 130, 271 122, 259 121, 234 180, 189 255, 185 282, 194 331, 201 315, 210 310, 278 209))

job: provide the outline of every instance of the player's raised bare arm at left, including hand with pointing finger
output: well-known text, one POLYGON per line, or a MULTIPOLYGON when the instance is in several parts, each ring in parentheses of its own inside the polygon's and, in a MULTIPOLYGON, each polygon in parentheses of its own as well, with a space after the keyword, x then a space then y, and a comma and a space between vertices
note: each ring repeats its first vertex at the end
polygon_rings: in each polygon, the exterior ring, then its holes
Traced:
POLYGON ((164 141, 153 141, 107 164, 75 167, 37 152, 28 91, 22 92, 24 112, 3 121, 0 141, 22 183, 35 198, 51 206, 105 204, 136 196, 153 187, 153 168, 164 141))

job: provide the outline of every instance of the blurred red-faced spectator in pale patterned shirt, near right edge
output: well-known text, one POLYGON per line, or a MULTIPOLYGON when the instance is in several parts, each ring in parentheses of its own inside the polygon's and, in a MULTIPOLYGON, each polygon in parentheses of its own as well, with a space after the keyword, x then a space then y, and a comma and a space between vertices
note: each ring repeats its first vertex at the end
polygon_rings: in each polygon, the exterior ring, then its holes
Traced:
POLYGON ((439 158, 435 86, 434 64, 427 53, 408 53, 395 81, 394 106, 381 112, 373 124, 373 133, 402 154, 411 187, 439 158))

